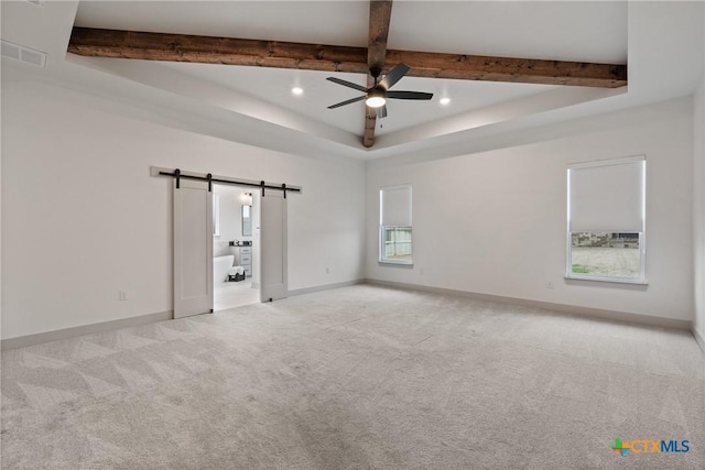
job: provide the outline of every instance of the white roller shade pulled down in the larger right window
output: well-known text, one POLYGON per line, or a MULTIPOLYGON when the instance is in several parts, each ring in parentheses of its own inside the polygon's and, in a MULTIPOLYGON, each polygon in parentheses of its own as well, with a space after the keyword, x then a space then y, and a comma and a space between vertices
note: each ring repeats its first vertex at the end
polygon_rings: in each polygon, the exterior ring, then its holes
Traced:
POLYGON ((572 232, 644 231, 643 156, 568 168, 568 229, 572 232))

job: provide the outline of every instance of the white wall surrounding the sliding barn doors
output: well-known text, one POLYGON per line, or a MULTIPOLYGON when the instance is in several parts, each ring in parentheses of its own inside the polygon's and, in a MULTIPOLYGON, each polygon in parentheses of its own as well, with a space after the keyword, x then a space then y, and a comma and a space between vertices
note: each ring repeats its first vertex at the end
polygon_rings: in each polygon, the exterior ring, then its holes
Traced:
POLYGON ((289 204, 290 289, 361 277, 361 162, 123 118, 43 84, 3 83, 2 98, 2 338, 172 309, 171 181, 151 165, 302 186, 289 204))

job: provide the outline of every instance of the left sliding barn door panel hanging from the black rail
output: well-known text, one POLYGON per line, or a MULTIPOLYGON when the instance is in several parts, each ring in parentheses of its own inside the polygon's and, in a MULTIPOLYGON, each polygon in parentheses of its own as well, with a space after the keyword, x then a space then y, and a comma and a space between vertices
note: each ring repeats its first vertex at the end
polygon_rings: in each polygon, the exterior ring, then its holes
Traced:
POLYGON ((213 193, 174 179, 174 318, 213 311, 213 193))

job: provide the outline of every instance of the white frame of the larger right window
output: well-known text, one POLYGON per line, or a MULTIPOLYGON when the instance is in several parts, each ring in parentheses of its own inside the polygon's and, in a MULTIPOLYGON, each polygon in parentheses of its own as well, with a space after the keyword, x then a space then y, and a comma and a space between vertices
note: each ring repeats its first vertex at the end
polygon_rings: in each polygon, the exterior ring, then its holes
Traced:
POLYGON ((597 282, 608 282, 616 284, 648 284, 647 281, 647 157, 646 155, 634 155, 627 156, 620 159, 609 159, 609 160, 597 160, 594 162, 586 163, 577 163, 568 165, 566 171, 566 179, 567 179, 567 194, 566 194, 566 225, 565 225, 565 278, 566 280, 577 280, 577 281, 597 281, 597 282), (641 182, 641 219, 642 219, 642 228, 641 231, 616 231, 616 230, 604 230, 604 229, 593 229, 593 230, 576 230, 573 232, 571 230, 571 171, 572 170, 581 170, 581 168, 590 168, 597 166, 610 166, 626 163, 637 163, 643 162, 642 170, 642 182, 641 182), (573 233, 638 233, 639 236, 639 275, 637 277, 621 277, 621 276, 609 276, 609 275, 599 275, 599 274, 589 274, 589 273, 574 273, 573 272, 573 233))

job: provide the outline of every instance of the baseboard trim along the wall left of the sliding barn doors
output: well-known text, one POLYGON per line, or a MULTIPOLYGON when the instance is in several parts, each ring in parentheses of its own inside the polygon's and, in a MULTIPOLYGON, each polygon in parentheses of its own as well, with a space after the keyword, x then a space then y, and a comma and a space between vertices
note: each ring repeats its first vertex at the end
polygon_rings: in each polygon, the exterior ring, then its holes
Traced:
POLYGON ((83 325, 79 327, 64 328, 55 331, 40 332, 36 335, 19 336, 0 341, 0 349, 24 348, 26 346, 58 341, 61 339, 75 338, 83 335, 93 335, 118 328, 139 327, 154 321, 170 320, 174 318, 172 310, 158 311, 155 314, 140 315, 138 317, 121 318, 119 320, 102 321, 99 324, 83 325))

